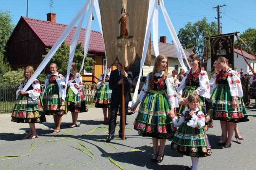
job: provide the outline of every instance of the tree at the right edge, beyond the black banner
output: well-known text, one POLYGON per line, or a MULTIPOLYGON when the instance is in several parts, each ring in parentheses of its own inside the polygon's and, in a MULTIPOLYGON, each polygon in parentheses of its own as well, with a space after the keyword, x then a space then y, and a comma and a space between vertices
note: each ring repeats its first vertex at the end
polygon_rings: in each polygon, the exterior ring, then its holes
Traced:
MULTIPOLYGON (((254 55, 256 55, 256 28, 246 29, 245 32, 243 32, 243 34, 240 34, 239 37, 248 45, 251 51, 253 51, 254 55)), ((239 43, 241 47, 243 47, 244 51, 251 53, 251 51, 246 47, 246 45, 243 44, 243 42, 241 42, 241 40, 239 41, 239 43)), ((237 44, 237 40, 235 44, 237 44)))

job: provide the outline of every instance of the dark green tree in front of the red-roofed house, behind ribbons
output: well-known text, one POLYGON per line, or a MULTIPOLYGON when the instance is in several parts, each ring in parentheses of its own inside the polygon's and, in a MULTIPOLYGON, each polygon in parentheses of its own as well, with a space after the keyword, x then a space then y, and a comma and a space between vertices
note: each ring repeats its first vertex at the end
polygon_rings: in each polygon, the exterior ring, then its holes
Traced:
MULTIPOLYGON (((46 52, 48 53, 50 51, 49 48, 46 48, 46 52)), ((56 51, 56 53, 53 55, 52 59, 50 59, 49 63, 47 64, 48 68, 51 63, 56 63, 58 66, 58 72, 62 75, 66 75, 67 69, 68 69, 68 59, 69 59, 69 53, 70 53, 70 46, 65 43, 65 41, 62 43, 60 48, 56 51)), ((45 58, 46 55, 42 56, 42 59, 45 58)), ((73 58, 73 62, 76 63, 76 67, 78 71, 81 68, 81 64, 84 57, 84 50, 82 48, 81 43, 78 43, 76 45, 76 50, 73 58)), ((92 59, 86 58, 84 61, 84 69, 86 71, 92 71, 94 67, 90 65, 90 63, 95 63, 92 59)))

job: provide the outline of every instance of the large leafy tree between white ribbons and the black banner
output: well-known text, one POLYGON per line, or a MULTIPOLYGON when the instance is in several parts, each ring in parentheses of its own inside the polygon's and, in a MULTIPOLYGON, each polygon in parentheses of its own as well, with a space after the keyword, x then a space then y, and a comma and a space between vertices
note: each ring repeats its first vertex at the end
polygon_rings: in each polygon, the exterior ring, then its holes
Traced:
POLYGON ((206 38, 217 35, 216 22, 208 23, 206 17, 194 24, 188 22, 184 28, 179 30, 178 38, 183 48, 194 48, 201 58, 206 45, 206 38))

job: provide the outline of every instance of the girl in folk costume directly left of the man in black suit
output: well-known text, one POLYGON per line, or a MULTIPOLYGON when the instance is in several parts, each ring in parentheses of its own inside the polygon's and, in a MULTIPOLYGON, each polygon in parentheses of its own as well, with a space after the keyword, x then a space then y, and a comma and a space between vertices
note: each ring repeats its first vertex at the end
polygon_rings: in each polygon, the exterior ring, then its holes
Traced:
POLYGON ((100 75, 100 78, 97 82, 97 91, 94 95, 95 107, 102 108, 104 120, 103 123, 109 123, 110 118, 110 97, 112 90, 109 89, 109 77, 110 77, 110 68, 107 68, 107 75, 100 75), (108 112, 108 116, 107 116, 108 112))

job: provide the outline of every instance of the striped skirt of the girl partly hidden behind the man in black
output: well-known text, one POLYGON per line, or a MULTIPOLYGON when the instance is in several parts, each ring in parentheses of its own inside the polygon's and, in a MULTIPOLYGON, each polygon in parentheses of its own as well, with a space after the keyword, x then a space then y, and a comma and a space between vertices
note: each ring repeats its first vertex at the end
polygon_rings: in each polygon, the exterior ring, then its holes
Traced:
POLYGON ((109 108, 112 90, 109 89, 109 83, 103 83, 94 95, 94 103, 97 108, 109 108))

